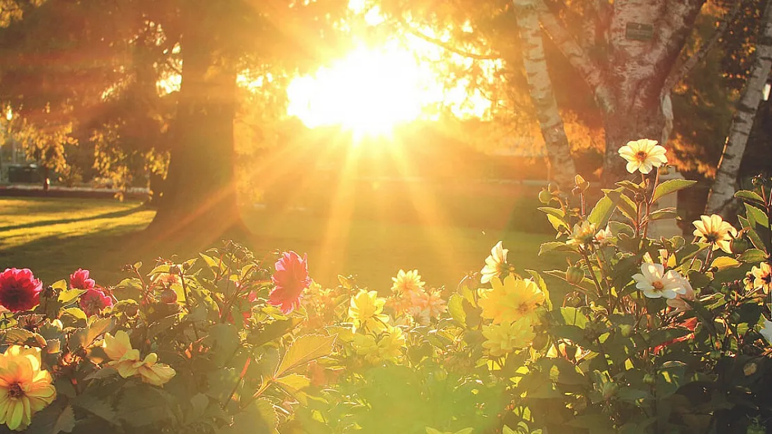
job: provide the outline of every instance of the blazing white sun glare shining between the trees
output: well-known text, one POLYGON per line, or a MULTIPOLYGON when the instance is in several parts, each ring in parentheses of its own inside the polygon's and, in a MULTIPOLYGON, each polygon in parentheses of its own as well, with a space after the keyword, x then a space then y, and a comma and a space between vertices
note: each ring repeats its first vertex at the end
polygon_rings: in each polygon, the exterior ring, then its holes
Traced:
POLYGON ((361 45, 313 76, 293 79, 287 113, 306 126, 340 125, 354 136, 388 135, 442 99, 432 70, 397 43, 361 45))

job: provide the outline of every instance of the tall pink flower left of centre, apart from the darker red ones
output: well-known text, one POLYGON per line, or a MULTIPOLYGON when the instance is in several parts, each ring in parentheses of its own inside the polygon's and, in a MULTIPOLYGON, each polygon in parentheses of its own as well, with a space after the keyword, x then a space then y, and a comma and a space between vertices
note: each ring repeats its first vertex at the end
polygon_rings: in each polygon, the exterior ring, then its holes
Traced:
POLYGON ((303 254, 303 259, 293 251, 282 254, 276 261, 276 272, 271 276, 276 288, 269 295, 269 304, 280 306, 285 314, 300 306, 303 290, 311 286, 307 261, 306 254, 303 254))

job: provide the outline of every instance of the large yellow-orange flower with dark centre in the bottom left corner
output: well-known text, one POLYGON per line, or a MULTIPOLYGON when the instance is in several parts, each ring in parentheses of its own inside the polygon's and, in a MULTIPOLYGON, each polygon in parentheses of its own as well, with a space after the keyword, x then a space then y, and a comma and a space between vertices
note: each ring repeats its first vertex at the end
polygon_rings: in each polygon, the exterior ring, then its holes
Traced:
POLYGON ((32 415, 56 399, 51 375, 40 363, 40 348, 12 345, 0 356, 0 424, 26 429, 32 415))

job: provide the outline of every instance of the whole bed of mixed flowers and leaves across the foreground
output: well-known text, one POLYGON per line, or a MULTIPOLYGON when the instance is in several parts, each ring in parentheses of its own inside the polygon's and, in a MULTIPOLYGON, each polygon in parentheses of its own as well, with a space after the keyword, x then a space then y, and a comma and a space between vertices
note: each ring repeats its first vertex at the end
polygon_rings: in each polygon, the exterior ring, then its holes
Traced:
MULTIPOLYGON (((499 243, 433 288, 417 270, 323 288, 306 258, 227 243, 182 261, 45 286, 0 274, 0 423, 29 432, 765 432, 772 408, 770 184, 741 191, 740 227, 647 237, 665 150, 586 203, 543 190, 557 231, 520 270, 499 243), (545 280, 549 279, 549 280, 545 280), (549 286, 547 282, 549 281, 549 286), (561 294, 558 297, 556 294, 561 294), (565 294, 564 296, 562 294, 565 294)), ((312 264, 313 265, 313 264, 312 264)), ((313 269, 313 266, 312 266, 313 269)))

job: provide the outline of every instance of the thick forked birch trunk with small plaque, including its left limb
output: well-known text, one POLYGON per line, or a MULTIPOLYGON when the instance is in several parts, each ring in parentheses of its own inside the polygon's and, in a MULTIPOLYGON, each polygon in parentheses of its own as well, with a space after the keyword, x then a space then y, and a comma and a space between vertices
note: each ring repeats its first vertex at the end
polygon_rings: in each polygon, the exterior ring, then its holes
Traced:
MULTIPOLYGON (((590 86, 604 115, 604 184, 628 176, 618 156, 620 146, 629 140, 666 136, 662 102, 667 92, 663 89, 704 2, 616 0, 608 5, 610 19, 604 32, 608 57, 596 62, 543 0, 537 0, 541 24, 590 86)), ((598 15, 598 25, 605 27, 605 16, 598 15)))

